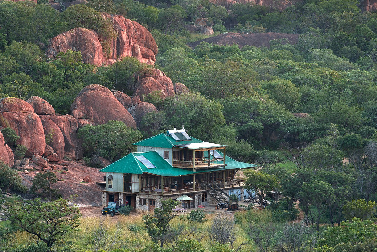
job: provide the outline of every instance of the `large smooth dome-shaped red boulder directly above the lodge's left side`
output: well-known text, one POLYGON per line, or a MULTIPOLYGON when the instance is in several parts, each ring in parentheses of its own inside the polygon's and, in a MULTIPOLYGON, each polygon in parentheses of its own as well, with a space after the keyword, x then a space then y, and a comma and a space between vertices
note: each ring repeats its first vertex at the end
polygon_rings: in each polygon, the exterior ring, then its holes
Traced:
POLYGON ((96 125, 110 120, 123 121, 136 129, 135 120, 112 92, 101 85, 91 84, 81 90, 71 105, 76 119, 92 120, 96 125))

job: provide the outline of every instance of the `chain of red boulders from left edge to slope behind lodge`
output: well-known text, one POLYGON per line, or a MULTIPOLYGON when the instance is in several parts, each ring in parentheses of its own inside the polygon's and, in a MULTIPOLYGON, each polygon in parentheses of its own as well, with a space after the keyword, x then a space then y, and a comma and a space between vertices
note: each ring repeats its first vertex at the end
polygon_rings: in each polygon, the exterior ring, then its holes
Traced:
MULTIPOLYGON (((148 112, 157 111, 152 103, 144 102, 145 95, 153 91, 161 92, 161 97, 173 96, 176 92, 188 91, 181 83, 172 80, 158 69, 139 74, 134 96, 131 98, 120 91, 92 84, 81 90, 71 106, 70 115, 55 113, 46 100, 33 96, 27 101, 6 97, 0 100, 0 126, 12 128, 20 136, 17 144, 25 145, 26 156, 43 156, 48 161, 60 161, 64 157, 81 158, 81 140, 77 130, 91 124, 98 125, 110 120, 123 121, 136 128, 141 118, 148 112), (46 144, 46 135, 52 139, 46 144)), ((0 133, 0 159, 15 164, 11 148, 4 142, 0 133)))

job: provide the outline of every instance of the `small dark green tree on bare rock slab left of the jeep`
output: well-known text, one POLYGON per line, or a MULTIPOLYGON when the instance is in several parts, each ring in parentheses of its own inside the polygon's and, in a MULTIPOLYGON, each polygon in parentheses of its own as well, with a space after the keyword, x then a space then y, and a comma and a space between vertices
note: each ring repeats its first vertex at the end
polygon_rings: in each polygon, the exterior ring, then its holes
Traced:
POLYGON ((46 195, 48 200, 51 198, 56 198, 60 194, 58 194, 58 189, 51 188, 52 184, 57 183, 59 180, 57 179, 54 172, 46 172, 46 173, 39 173, 35 175, 32 180, 32 186, 30 188, 30 192, 35 194, 39 189, 41 189, 40 195, 46 195))

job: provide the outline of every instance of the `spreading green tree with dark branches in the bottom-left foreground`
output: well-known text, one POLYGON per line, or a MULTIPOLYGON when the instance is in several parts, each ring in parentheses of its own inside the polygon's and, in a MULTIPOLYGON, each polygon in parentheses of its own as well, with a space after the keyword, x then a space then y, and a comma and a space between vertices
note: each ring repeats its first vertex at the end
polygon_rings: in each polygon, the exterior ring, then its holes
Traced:
MULTIPOLYGON (((67 200, 42 202, 40 199, 7 202, 6 216, 12 226, 35 236, 37 244, 46 243, 49 248, 57 245, 80 226, 80 210, 69 206, 67 200)), ((51 249, 50 249, 51 251, 51 249)))

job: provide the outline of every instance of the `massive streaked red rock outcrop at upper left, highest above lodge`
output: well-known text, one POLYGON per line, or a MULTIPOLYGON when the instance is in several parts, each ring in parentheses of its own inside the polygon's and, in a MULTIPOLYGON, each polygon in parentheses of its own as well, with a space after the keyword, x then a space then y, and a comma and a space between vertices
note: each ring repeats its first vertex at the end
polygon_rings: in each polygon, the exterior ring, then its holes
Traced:
POLYGON ((98 34, 85 28, 74 28, 51 38, 46 55, 56 58, 58 52, 81 51, 83 61, 96 66, 112 65, 126 56, 136 57, 150 65, 155 63, 157 44, 144 26, 121 15, 101 14, 113 23, 113 28, 118 32, 118 37, 110 42, 109 57, 103 54, 98 34))

